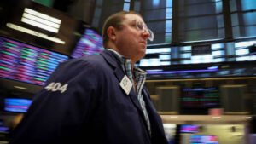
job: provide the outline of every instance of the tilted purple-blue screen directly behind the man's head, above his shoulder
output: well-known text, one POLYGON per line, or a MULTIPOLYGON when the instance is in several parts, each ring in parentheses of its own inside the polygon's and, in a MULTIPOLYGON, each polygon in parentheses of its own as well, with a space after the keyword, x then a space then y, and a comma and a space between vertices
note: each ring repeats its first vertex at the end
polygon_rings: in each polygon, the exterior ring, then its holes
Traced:
POLYGON ((103 49, 101 35, 93 29, 86 28, 71 57, 78 58, 85 55, 97 55, 103 49))

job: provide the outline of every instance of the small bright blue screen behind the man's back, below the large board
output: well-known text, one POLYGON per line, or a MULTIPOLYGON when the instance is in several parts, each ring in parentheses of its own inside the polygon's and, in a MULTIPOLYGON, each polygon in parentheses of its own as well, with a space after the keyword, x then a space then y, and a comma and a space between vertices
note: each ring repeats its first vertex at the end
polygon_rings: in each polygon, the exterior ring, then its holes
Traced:
POLYGON ((26 112, 32 100, 21 98, 5 98, 4 110, 6 112, 26 112))

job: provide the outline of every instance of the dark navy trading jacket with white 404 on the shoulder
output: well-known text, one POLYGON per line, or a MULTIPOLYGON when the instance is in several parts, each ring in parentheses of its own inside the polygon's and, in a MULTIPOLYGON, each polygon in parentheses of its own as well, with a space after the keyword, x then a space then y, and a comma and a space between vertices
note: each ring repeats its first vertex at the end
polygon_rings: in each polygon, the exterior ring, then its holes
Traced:
POLYGON ((135 91, 126 95, 119 85, 124 76, 108 50, 61 63, 34 97, 10 144, 166 144, 147 89, 151 135, 135 91))

